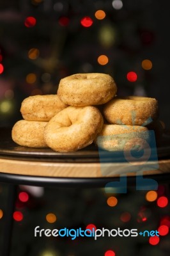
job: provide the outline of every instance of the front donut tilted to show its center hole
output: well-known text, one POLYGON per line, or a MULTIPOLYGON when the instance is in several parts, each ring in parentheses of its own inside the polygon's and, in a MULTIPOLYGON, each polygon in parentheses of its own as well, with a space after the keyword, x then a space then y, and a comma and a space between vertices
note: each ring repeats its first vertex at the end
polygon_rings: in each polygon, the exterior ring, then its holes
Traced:
POLYGON ((93 143, 102 126, 102 115, 94 106, 69 106, 51 118, 44 138, 55 151, 74 152, 93 143))

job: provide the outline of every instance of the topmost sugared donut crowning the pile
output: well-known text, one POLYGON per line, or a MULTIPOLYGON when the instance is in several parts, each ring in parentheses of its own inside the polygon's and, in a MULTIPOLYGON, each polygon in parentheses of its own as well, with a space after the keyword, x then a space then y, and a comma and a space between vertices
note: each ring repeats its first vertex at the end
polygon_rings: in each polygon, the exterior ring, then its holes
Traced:
POLYGON ((114 79, 101 73, 74 74, 61 79, 58 87, 61 100, 75 107, 104 104, 116 92, 114 79))

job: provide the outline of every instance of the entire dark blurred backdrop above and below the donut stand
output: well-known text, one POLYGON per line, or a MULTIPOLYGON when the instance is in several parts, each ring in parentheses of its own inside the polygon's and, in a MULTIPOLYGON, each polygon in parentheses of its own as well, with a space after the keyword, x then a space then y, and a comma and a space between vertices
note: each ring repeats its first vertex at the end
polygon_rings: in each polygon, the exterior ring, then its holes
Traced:
MULTIPOLYGON (((122 8, 115 9, 111 0, 0 1, 1 127, 11 127, 22 118, 20 104, 29 95, 56 93, 59 80, 71 74, 103 72, 114 77, 118 95, 155 97, 160 120, 169 129, 169 1, 122 0, 117 6, 121 3, 122 8), (95 17, 97 10, 105 12, 104 19, 95 17), (27 17, 35 17, 35 26, 25 23, 27 17), (83 17, 90 17, 93 24, 82 26, 83 17), (106 65, 98 63, 102 54, 109 59, 106 65), (152 68, 144 69, 143 60, 150 60, 152 68), (134 82, 127 79, 130 71, 137 74, 134 82)), ((19 188, 19 193, 26 191, 29 200, 21 202, 17 197, 16 211, 23 219, 14 221, 12 256, 112 256, 105 255, 107 250, 116 256, 169 256, 169 234, 160 237, 155 246, 141 236, 98 241, 33 236, 37 225, 85 228, 93 223, 97 228, 139 230, 156 230, 162 224, 170 227, 169 204, 159 207, 156 199, 148 202, 147 191, 136 191, 135 187, 129 187, 126 194, 107 194, 95 188, 40 190, 19 188), (109 196, 118 199, 115 207, 107 204, 109 196), (57 217, 54 223, 45 218, 49 212, 57 217)), ((1 184, 1 243, 7 193, 8 187, 1 184)), ((169 200, 169 185, 160 184, 157 196, 169 200)))

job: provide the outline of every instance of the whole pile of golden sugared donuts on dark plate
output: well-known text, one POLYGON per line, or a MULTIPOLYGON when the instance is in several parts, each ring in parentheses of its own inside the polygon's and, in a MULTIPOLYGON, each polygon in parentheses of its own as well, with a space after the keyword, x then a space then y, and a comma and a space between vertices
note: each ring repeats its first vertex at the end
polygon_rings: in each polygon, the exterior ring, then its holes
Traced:
MULTIPOLYGON (((65 77, 56 95, 23 100, 23 120, 13 126, 12 139, 24 147, 50 147, 57 152, 74 152, 93 142, 105 150, 123 150, 125 143, 120 141, 126 142, 128 149, 132 138, 137 143, 148 140, 147 125, 155 127, 158 119, 157 100, 134 96, 120 99, 116 92, 116 83, 107 74, 65 77)), ((161 126, 159 122, 157 126, 161 126)))

